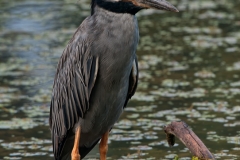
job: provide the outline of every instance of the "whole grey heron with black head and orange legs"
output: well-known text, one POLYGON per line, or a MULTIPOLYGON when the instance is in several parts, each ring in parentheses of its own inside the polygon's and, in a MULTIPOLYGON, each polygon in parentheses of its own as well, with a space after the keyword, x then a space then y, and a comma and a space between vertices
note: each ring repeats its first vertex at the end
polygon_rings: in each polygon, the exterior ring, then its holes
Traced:
POLYGON ((92 0, 58 62, 49 125, 56 160, 80 160, 108 136, 138 83, 135 14, 142 9, 178 12, 165 0, 92 0))

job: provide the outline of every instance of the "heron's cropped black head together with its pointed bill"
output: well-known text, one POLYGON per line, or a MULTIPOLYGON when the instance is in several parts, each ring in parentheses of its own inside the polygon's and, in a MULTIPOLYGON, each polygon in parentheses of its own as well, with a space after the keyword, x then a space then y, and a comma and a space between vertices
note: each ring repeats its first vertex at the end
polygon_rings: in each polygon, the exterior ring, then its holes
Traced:
POLYGON ((92 14, 94 14, 96 5, 115 13, 136 14, 138 11, 148 8, 178 12, 172 4, 165 0, 92 0, 92 14))

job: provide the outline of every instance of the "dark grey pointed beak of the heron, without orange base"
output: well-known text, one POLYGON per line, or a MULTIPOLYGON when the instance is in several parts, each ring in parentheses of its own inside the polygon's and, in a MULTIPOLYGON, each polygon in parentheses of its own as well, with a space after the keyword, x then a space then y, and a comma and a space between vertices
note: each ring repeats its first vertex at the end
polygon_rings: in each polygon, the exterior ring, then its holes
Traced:
POLYGON ((179 12, 176 7, 165 0, 142 0, 141 2, 149 8, 179 12))

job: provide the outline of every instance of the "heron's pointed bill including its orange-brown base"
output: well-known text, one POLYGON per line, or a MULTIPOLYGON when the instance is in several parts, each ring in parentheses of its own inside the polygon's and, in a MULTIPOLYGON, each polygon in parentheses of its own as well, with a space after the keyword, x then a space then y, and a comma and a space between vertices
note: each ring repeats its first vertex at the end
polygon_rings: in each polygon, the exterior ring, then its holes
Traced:
POLYGON ((176 7, 165 0, 125 0, 131 1, 133 4, 143 8, 154 8, 159 10, 167 10, 179 12, 176 7))

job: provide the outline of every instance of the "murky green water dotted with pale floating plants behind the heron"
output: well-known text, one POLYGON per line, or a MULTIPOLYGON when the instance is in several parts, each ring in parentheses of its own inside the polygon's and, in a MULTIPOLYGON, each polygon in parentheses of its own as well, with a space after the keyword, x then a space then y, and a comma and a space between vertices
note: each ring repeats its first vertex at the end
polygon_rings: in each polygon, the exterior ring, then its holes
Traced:
MULTIPOLYGON (((140 82, 108 159, 173 159, 162 126, 183 120, 218 159, 240 157, 240 2, 171 0, 138 14, 140 82)), ((0 159, 52 159, 49 102, 57 61, 88 1, 0 1, 0 159)), ((98 157, 96 147, 89 157, 98 157)))

